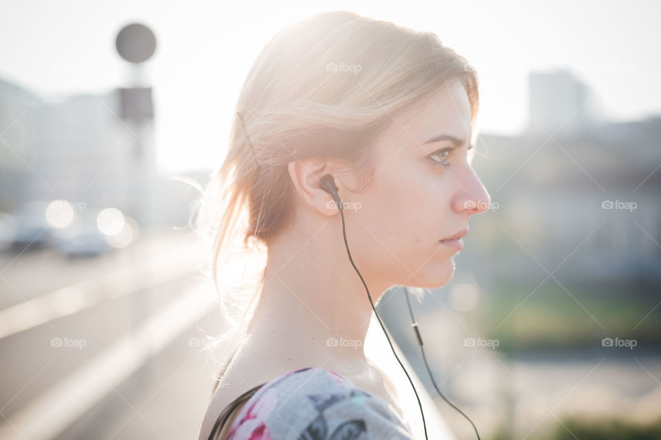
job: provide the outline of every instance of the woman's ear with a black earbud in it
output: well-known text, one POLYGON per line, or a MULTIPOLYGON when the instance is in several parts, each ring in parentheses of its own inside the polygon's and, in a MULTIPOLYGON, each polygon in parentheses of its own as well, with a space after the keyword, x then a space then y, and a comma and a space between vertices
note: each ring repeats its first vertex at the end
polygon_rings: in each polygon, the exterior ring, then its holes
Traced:
MULTIPOLYGON (((323 159, 300 159, 288 164, 289 177, 305 206, 323 215, 337 213, 333 196, 319 183, 323 175, 331 173, 323 159)), ((331 173, 332 174, 332 173, 331 173)), ((335 179, 336 184, 337 179, 335 179)), ((339 192, 339 186, 338 186, 339 192)))

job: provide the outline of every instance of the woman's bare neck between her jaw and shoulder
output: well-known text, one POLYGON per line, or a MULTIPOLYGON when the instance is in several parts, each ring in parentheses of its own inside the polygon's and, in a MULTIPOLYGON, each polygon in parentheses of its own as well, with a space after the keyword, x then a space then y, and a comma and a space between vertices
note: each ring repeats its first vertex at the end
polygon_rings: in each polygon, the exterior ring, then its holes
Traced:
MULTIPOLYGON (((366 363, 373 309, 348 260, 342 230, 332 226, 326 223, 316 234, 298 229, 269 244, 264 284, 248 331, 260 348, 271 349, 267 359, 282 359, 292 368, 324 366, 351 373, 366 363)), ((361 275, 377 303, 385 287, 361 275)))

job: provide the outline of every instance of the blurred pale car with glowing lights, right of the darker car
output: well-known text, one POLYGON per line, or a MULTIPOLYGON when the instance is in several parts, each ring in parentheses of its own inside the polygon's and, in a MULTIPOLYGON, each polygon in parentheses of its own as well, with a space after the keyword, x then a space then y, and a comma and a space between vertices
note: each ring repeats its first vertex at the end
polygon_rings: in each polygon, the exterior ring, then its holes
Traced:
POLYGON ((96 223, 76 219, 62 230, 53 234, 52 246, 67 258, 93 257, 109 252, 112 248, 105 236, 96 228, 96 223))

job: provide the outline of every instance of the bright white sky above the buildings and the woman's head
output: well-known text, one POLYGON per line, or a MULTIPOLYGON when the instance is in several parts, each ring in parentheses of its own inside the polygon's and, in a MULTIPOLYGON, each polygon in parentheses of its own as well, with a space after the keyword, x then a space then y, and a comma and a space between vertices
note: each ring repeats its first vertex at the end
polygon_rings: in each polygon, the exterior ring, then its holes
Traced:
POLYGON ((571 69, 613 120, 661 113, 653 0, 0 0, 0 76, 46 96, 105 93, 129 78, 117 32, 148 25, 158 46, 147 63, 158 166, 209 167, 224 155, 239 87, 264 43, 288 23, 340 9, 431 30, 468 58, 480 77, 483 133, 523 129, 527 73, 538 69, 571 69))

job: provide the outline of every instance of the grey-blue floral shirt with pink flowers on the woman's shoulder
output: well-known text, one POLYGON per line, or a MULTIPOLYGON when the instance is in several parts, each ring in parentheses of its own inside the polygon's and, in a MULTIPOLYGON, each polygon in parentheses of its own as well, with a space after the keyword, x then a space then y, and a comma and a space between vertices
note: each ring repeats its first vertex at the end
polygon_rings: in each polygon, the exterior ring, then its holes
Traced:
POLYGON ((380 396, 322 367, 288 371, 241 408, 228 440, 412 440, 380 396))

